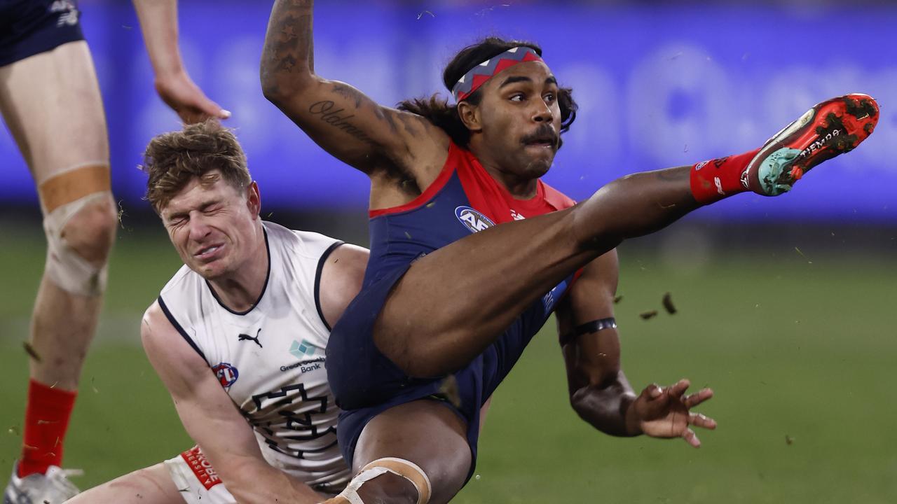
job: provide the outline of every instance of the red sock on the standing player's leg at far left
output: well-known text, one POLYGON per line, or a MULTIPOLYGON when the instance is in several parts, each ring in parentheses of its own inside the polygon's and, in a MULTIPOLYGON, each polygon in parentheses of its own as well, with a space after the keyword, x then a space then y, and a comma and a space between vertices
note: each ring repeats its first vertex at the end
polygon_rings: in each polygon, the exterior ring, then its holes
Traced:
POLYGON ((50 465, 62 465, 63 440, 76 395, 77 392, 29 381, 20 478, 44 474, 50 465))

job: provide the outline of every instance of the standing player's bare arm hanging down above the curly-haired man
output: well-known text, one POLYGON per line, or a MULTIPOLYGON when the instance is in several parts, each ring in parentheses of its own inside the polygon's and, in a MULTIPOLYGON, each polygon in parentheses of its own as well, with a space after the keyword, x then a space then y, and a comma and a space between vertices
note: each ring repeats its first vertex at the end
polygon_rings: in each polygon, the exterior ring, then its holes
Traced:
POLYGON ((160 98, 185 123, 231 117, 231 112, 205 96, 184 68, 178 47, 178 0, 133 1, 160 98))

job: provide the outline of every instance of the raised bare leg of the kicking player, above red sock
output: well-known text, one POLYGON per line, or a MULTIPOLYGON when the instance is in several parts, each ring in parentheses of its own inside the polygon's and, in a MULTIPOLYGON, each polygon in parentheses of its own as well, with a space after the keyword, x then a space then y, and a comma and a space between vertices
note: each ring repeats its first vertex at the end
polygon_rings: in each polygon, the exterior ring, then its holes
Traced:
POLYGON ((501 224, 422 257, 380 312, 379 350, 412 376, 461 368, 577 268, 698 208, 690 170, 619 178, 573 208, 501 224))

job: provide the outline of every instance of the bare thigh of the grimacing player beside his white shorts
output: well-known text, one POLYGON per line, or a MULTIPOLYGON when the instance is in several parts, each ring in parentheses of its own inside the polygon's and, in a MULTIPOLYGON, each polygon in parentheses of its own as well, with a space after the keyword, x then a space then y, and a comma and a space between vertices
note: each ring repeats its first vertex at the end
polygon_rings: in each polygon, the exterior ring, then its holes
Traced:
POLYGON ((79 493, 66 504, 184 504, 164 464, 125 474, 79 493))

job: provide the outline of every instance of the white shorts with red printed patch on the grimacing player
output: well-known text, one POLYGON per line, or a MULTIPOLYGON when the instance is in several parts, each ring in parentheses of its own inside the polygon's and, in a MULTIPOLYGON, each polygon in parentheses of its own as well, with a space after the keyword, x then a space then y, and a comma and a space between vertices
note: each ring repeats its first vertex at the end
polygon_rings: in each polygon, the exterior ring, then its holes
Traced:
POLYGON ((199 447, 166 460, 165 466, 187 504, 237 504, 199 447))

